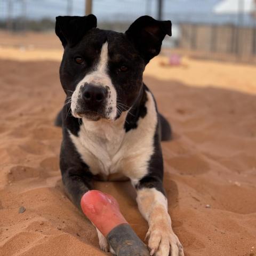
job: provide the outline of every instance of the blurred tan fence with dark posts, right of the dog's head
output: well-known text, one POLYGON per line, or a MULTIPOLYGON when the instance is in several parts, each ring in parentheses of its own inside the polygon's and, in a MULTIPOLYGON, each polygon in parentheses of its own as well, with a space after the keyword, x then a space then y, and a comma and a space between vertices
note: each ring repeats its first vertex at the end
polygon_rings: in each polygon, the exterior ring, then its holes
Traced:
POLYGON ((237 60, 256 59, 256 27, 180 23, 178 46, 210 57, 231 55, 237 60))

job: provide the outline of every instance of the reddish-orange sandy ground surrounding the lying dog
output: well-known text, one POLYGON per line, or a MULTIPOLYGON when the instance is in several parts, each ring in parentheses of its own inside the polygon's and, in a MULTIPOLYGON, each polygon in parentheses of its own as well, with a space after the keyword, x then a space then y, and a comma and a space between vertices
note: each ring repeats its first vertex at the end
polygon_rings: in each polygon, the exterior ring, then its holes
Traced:
MULTIPOLYGON (((59 44, 12 40, 0 48, 0 255, 110 255, 61 183, 59 44)), ((256 67, 165 61, 150 62, 145 82, 174 131, 162 144, 174 231, 186 256, 256 255, 256 67)), ((95 187, 116 197, 143 239, 147 223, 129 182, 95 187)))

